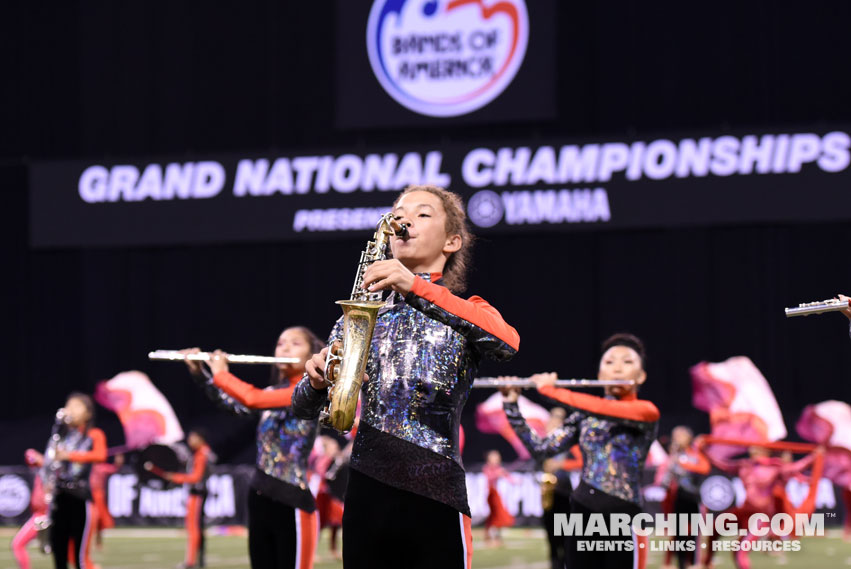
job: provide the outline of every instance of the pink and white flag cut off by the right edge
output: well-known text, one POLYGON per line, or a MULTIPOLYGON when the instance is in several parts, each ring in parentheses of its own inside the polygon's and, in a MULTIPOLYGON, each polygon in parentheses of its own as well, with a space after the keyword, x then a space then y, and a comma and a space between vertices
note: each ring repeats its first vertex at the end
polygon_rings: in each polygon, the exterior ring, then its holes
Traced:
POLYGON ((851 486, 851 406, 844 401, 807 405, 795 429, 802 439, 824 445, 823 476, 838 486, 851 486))

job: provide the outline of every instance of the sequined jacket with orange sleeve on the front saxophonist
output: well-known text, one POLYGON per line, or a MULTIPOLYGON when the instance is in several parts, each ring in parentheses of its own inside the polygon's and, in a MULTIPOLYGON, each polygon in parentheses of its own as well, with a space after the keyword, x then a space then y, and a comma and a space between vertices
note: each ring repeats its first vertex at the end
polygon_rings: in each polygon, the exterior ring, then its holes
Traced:
MULTIPOLYGON (((329 344, 342 335, 342 319, 329 344)), ((351 467, 388 486, 470 515, 459 450, 461 410, 480 360, 507 360, 517 332, 480 297, 467 300, 420 274, 404 298, 393 293, 378 313, 351 467)), ((304 379, 293 407, 315 418, 327 389, 304 379)))

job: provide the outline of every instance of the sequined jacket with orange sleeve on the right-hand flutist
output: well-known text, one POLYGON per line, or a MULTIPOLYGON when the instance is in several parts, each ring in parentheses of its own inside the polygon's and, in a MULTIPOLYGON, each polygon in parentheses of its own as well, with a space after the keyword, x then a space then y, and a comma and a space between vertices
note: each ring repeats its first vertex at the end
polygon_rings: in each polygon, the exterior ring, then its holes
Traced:
MULTIPOLYGON (((562 427, 541 439, 523 420, 517 404, 505 403, 508 421, 529 452, 541 459, 565 452, 578 441, 582 451, 579 489, 585 486, 584 490, 591 495, 603 492, 640 506, 641 474, 650 445, 656 438, 659 420, 656 406, 635 396, 610 399, 551 386, 539 391, 574 411, 562 427)), ((584 494, 583 491, 574 492, 573 499, 593 500, 584 494)))

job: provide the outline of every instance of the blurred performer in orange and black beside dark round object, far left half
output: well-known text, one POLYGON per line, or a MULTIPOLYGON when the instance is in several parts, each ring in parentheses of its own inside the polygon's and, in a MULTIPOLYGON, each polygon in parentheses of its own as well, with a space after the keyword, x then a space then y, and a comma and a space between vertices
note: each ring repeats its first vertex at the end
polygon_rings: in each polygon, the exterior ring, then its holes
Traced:
POLYGON ((207 499, 207 479, 210 477, 209 464, 214 461, 207 437, 201 429, 193 429, 186 437, 186 444, 192 451, 192 459, 186 465, 187 472, 165 472, 151 463, 145 463, 160 478, 175 484, 189 486, 186 499, 186 557, 183 569, 204 567, 204 501, 207 499))

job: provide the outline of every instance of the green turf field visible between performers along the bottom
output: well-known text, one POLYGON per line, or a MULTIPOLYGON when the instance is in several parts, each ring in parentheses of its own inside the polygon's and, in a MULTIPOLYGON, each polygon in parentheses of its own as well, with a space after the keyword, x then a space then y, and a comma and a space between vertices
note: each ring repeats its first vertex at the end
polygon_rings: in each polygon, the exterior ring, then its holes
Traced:
MULTIPOLYGON (((485 547, 481 530, 474 530, 473 567, 476 568, 528 568, 549 569, 546 561, 546 544, 542 530, 511 529, 504 534, 502 547, 485 547)), ((14 530, 0 529, 0 540, 5 544, 0 549, 0 569, 17 569, 9 550, 14 530)), ((106 533, 103 551, 95 551, 93 560, 103 569, 171 569, 183 559, 184 538, 179 530, 173 529, 115 529, 106 533)), ((248 567, 246 538, 215 535, 211 530, 207 540, 207 566, 248 567)), ((716 555, 716 567, 732 569, 730 553, 716 555)), ((53 567, 52 559, 42 555, 34 547, 30 549, 33 569, 53 567)), ((648 567, 660 567, 662 554, 650 553, 648 567)), ((784 567, 788 569, 851 567, 851 543, 843 541, 838 533, 830 532, 823 538, 802 540, 800 552, 789 552, 785 559, 765 553, 751 554, 754 569, 784 567)), ((319 546, 317 569, 340 568, 342 563, 334 561, 328 553, 328 538, 323 532, 319 546)), ((404 566, 400 566, 404 569, 404 566)))

